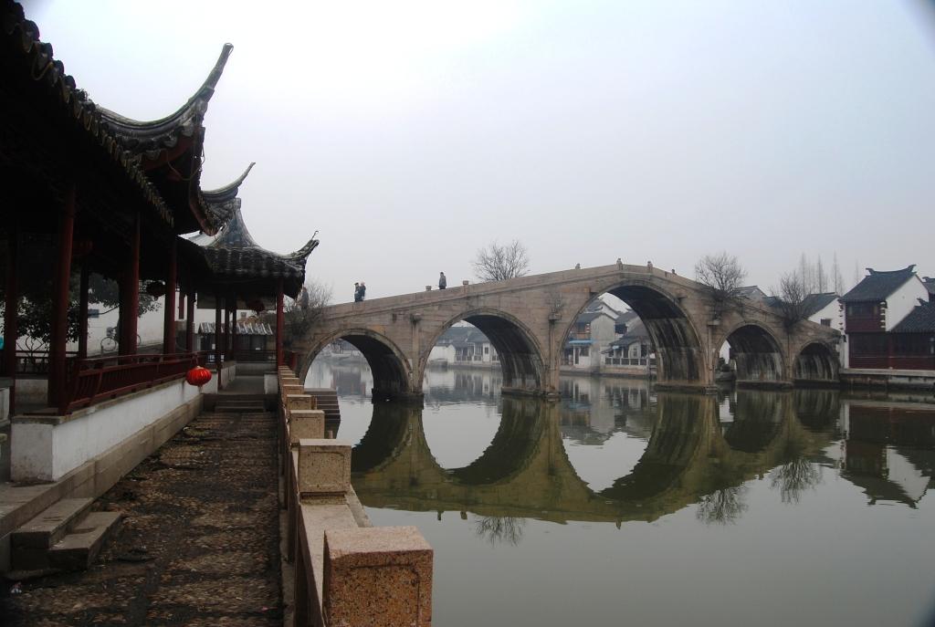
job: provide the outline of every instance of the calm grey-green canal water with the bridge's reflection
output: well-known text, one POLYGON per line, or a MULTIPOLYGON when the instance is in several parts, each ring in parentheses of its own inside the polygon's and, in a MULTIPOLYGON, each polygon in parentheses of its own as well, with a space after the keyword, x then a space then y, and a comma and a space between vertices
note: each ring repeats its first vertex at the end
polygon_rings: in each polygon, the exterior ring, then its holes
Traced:
POLYGON ((433 623, 935 624, 935 399, 655 392, 432 370, 373 404, 366 363, 314 363, 376 525, 435 549, 433 623))

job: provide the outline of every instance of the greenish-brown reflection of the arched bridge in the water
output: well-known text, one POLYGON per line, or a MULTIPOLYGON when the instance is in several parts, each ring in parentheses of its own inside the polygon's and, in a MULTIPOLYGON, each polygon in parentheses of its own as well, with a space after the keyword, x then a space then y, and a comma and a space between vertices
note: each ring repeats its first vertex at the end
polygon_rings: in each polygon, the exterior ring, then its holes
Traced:
MULTIPOLYGON (((796 406, 820 407, 826 417, 816 420, 830 424, 838 411, 835 396, 740 391, 732 420, 722 423, 712 396, 644 394, 645 405, 621 407, 615 420, 634 424, 638 437, 648 435, 645 449, 628 474, 602 490, 592 489, 569 460, 563 428, 574 433, 575 413, 563 414, 562 405, 503 398, 490 446, 460 468, 442 468, 432 455, 421 407, 374 405, 367 434, 353 449, 353 485, 373 507, 555 522, 655 520, 712 495, 723 498, 777 466, 821 459, 833 433, 806 429, 796 406)), ((786 470, 783 490, 807 488, 802 475, 786 470)), ((719 516, 730 512, 712 510, 712 520, 719 516)))

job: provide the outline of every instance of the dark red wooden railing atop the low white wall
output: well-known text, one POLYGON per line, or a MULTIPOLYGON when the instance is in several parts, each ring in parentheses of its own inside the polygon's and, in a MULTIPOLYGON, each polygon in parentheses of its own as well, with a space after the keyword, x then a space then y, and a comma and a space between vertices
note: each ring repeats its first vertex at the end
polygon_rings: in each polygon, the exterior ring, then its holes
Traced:
POLYGON ((183 378, 199 361, 198 353, 115 355, 72 360, 58 410, 66 414, 120 394, 183 378))

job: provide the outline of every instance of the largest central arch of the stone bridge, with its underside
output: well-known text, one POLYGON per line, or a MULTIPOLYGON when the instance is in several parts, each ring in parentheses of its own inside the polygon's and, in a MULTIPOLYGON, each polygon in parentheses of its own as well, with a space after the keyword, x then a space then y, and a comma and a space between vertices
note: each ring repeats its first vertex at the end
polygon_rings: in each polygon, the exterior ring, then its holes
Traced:
POLYGON ((578 317, 601 294, 610 293, 633 309, 653 340, 656 353, 656 380, 659 383, 704 382, 704 350, 701 335, 678 297, 645 279, 616 281, 602 292, 593 294, 574 312, 559 337, 558 349, 564 349, 578 317))

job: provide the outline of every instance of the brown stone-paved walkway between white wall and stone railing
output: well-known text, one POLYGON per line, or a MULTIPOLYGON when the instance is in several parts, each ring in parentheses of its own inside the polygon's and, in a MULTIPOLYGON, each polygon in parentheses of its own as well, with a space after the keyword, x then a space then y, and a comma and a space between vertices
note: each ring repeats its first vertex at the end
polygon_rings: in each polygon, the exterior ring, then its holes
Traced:
POLYGON ((204 414, 94 505, 125 514, 94 566, 5 590, 0 624, 281 625, 277 491, 272 415, 204 414))

